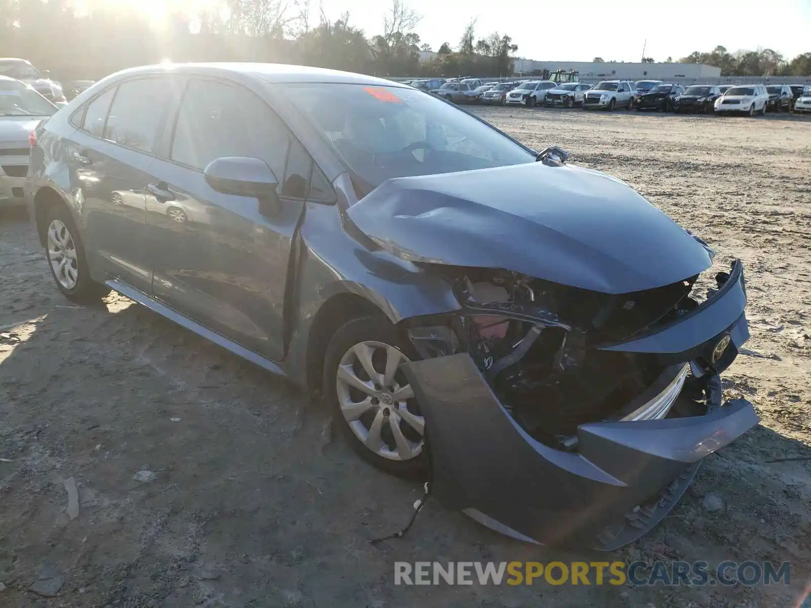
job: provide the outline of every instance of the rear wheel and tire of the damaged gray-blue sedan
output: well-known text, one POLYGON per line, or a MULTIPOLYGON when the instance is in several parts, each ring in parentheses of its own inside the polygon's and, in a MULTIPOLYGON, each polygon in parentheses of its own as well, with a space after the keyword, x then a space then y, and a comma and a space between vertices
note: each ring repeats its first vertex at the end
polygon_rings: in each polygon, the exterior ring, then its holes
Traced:
POLYGON ((50 208, 45 217, 45 259, 59 291, 73 302, 90 304, 104 298, 110 289, 90 278, 79 229, 64 205, 50 208))

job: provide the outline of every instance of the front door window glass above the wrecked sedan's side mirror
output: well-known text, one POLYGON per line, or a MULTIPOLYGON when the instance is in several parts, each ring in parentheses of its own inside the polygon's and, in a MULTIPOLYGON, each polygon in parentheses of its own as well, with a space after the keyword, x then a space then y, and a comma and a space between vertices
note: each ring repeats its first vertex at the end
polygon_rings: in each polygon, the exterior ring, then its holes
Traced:
POLYGON ((235 83, 191 79, 174 126, 173 161, 200 171, 221 156, 260 158, 277 178, 285 171, 290 135, 255 93, 235 83))

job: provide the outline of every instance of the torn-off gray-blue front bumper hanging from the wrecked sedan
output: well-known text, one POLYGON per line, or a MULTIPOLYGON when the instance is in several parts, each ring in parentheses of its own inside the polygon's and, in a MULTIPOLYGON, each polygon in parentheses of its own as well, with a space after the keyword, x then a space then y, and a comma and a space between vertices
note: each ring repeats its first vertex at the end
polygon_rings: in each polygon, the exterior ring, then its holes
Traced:
POLYGON ((410 363, 406 373, 426 421, 435 495, 524 541, 613 550, 641 537, 676 505, 704 456, 759 422, 749 401, 722 404, 718 378, 749 337, 745 300, 738 262, 713 298, 689 314, 604 347, 656 353, 668 365, 690 362, 693 375, 705 376, 706 406, 682 409, 680 417, 583 424, 577 451, 528 435, 469 354, 410 363), (722 342, 728 342, 723 355, 715 352, 722 342))

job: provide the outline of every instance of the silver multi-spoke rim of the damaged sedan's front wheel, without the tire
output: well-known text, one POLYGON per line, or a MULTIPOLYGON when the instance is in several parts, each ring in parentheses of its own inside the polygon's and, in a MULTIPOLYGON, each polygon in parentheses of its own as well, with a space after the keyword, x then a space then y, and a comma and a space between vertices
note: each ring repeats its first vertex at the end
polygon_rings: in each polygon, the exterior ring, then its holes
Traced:
POLYGON ((354 435, 388 460, 411 460, 423 452, 425 421, 401 366, 410 362, 391 345, 367 340, 338 364, 338 405, 354 435))

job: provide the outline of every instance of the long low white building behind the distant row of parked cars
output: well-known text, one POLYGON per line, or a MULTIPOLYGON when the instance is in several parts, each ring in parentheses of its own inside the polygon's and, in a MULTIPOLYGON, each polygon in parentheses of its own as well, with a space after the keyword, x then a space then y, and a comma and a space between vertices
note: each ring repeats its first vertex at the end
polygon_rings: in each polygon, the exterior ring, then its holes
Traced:
POLYGON ((721 68, 702 63, 629 63, 629 62, 536 62, 532 59, 513 60, 517 75, 532 75, 534 71, 576 71, 581 80, 671 80, 719 78, 721 68))

